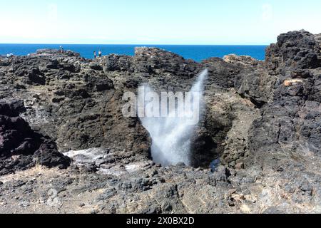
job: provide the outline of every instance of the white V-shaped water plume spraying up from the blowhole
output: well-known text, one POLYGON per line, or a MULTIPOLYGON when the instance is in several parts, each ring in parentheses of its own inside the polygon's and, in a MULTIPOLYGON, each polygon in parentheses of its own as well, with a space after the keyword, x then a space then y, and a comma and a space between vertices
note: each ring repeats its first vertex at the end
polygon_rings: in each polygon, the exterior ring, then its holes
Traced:
MULTIPOLYGON (((202 116, 201 110, 204 108, 202 100, 207 76, 208 70, 200 73, 190 93, 188 95, 185 93, 185 102, 182 103, 182 100, 178 99, 174 110, 169 111, 166 117, 159 115, 161 117, 141 118, 143 126, 153 140, 151 153, 154 162, 163 166, 176 165, 180 162, 185 165, 191 164, 190 146, 198 121, 202 116), (193 105, 188 105, 190 103, 193 105), (181 110, 183 110, 183 115, 182 113, 178 115, 181 110)), ((146 90, 151 91, 150 88, 146 90)), ((144 107, 146 108, 145 103, 144 107)))

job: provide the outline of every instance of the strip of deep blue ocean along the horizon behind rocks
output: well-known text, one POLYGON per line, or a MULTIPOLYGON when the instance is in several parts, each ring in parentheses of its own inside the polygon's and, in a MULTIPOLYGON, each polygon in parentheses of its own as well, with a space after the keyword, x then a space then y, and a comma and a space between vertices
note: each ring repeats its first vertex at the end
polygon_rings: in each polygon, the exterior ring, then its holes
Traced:
MULTIPOLYGON (((59 48, 59 44, 0 44, 0 55, 13 53, 15 56, 26 56, 41 48, 59 48)), ((93 51, 102 51, 103 55, 111 53, 133 56, 134 48, 138 46, 153 46, 171 51, 194 61, 203 61, 210 57, 219 57, 235 53, 237 55, 252 56, 258 60, 264 60, 267 46, 203 46, 203 45, 91 45, 70 44, 63 45, 64 50, 76 51, 84 58, 93 58, 93 51)))

